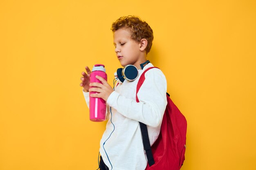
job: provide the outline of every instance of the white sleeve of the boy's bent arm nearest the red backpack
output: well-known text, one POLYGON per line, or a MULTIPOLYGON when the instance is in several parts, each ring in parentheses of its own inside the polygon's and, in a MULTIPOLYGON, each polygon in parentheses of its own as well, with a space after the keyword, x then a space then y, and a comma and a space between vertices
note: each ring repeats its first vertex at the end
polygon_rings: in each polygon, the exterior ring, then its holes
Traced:
POLYGON ((138 103, 114 91, 108 97, 107 104, 125 117, 157 127, 162 123, 167 105, 166 90, 164 74, 158 68, 152 68, 145 73, 144 83, 137 94, 138 103))

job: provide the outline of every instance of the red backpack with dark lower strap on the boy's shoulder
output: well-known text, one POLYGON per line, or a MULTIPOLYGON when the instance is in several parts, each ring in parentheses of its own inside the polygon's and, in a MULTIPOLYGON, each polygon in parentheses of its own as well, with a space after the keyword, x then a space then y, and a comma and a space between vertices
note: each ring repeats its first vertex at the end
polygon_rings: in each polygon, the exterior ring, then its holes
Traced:
MULTIPOLYGON (((157 67, 146 69, 137 84, 136 101, 139 102, 137 93, 145 80, 145 73, 157 67)), ((155 143, 150 147, 147 126, 139 122, 146 151, 148 165, 146 170, 180 170, 185 160, 186 150, 186 118, 166 93, 167 106, 162 120, 160 134, 155 143)))

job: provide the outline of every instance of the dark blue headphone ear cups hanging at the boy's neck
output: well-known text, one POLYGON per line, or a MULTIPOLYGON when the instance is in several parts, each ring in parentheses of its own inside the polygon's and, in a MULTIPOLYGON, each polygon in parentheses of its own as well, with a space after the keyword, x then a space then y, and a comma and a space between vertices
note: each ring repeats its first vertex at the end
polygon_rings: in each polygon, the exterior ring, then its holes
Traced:
POLYGON ((126 65, 124 68, 118 68, 117 77, 122 83, 125 79, 131 82, 138 77, 138 69, 134 65, 126 65))

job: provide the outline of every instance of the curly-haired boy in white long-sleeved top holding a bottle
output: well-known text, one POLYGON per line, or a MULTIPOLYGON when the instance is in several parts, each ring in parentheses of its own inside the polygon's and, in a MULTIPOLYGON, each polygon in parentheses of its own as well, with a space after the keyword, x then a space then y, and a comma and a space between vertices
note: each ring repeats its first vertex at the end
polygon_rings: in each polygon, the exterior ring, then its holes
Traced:
POLYGON ((153 64, 147 63, 147 54, 153 41, 153 30, 141 19, 126 16, 117 19, 112 24, 115 53, 121 66, 132 64, 138 69, 138 77, 132 82, 124 80, 113 91, 112 87, 102 77, 97 77, 103 84, 90 84, 90 69, 86 66, 82 72, 80 86, 89 106, 89 91, 97 92, 91 97, 100 97, 106 101, 108 116, 112 116, 106 125, 106 130, 100 141, 100 170, 144 170, 147 157, 141 138, 139 121, 148 127, 150 145, 157 139, 166 108, 166 78, 158 68, 150 69, 145 74, 137 96, 136 87, 141 74, 153 64), (94 86, 94 88, 90 88, 94 86), (109 115, 109 107, 112 114, 109 115), (112 135, 111 132, 113 131, 112 135), (108 141, 106 141, 108 139, 108 141), (104 142, 106 143, 104 144, 104 142), (104 144, 104 146, 103 146, 104 144))

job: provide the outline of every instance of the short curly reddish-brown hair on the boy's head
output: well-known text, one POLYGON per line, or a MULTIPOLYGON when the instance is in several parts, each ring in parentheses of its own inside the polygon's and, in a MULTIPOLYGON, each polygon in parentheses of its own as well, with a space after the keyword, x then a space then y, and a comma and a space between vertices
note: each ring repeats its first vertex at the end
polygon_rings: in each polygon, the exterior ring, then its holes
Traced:
POLYGON ((148 23, 142 21, 139 17, 128 15, 118 18, 111 26, 113 33, 121 28, 127 28, 130 31, 132 40, 140 42, 141 39, 145 38, 148 41, 145 49, 146 54, 149 53, 154 36, 148 23))

